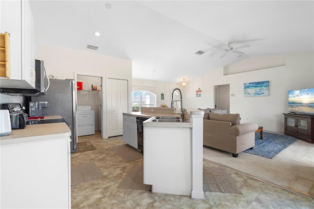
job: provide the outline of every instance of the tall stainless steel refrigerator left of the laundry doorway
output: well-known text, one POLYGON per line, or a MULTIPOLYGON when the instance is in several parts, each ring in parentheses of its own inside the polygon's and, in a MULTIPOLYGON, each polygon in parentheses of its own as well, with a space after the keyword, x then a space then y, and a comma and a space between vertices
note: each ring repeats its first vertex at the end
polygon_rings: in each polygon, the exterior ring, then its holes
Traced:
POLYGON ((43 115, 61 115, 71 129, 71 153, 77 150, 77 99, 76 85, 73 79, 50 79, 47 95, 31 97, 32 102, 49 102, 43 108, 43 115))

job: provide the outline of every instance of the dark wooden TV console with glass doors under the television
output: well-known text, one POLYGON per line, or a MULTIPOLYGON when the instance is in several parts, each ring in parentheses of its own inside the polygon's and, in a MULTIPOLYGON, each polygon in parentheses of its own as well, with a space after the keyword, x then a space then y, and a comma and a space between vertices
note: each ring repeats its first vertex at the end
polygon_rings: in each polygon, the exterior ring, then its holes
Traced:
POLYGON ((314 143, 314 115, 283 113, 285 115, 285 134, 303 141, 314 143))

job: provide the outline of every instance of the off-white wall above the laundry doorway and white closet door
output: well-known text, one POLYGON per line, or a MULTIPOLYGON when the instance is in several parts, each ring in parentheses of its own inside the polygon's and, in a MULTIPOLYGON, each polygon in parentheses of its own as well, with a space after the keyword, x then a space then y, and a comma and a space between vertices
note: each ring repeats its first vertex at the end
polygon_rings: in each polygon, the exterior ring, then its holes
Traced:
MULTIPOLYGON (((54 75, 58 79, 75 79, 76 73, 77 75, 126 79, 129 80, 129 98, 131 98, 131 60, 46 44, 40 44, 39 51, 40 59, 44 60, 47 75, 54 75)), ((131 110, 131 99, 129 109, 131 110)))

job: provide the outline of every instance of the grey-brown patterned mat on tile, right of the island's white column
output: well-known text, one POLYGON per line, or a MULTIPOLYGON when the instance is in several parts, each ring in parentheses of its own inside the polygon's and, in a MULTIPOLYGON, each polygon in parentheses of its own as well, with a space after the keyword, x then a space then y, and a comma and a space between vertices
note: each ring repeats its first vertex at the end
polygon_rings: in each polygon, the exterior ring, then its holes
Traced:
POLYGON ((203 190, 242 194, 233 179, 219 167, 203 167, 203 190))

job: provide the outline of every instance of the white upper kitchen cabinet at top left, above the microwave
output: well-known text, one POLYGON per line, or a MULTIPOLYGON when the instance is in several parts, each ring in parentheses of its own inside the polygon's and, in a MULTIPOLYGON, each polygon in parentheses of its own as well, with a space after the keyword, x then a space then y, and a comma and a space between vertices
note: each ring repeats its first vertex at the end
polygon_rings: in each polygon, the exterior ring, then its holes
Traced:
POLYGON ((11 77, 2 88, 35 88, 36 29, 28 0, 0 1, 0 33, 10 34, 11 77))

